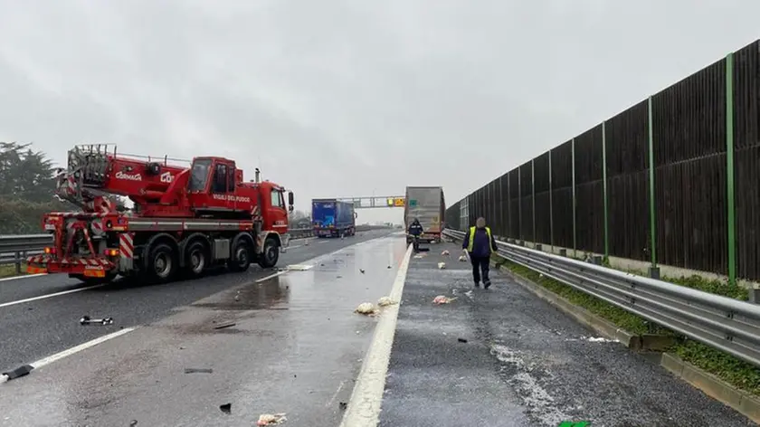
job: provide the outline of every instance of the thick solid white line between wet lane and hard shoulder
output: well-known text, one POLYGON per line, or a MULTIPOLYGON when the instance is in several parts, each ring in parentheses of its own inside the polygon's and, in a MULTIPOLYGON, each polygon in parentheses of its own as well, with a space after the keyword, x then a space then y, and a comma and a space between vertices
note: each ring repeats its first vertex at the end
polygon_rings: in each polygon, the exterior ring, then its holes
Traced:
MULTIPOLYGON (((401 301, 406 281, 406 270, 412 257, 412 245, 406 249, 404 261, 398 269, 391 289, 390 298, 401 301)), ((362 370, 356 378, 354 391, 348 401, 348 408, 340 422, 340 427, 375 427, 380 422, 380 406, 385 391, 385 375, 391 358, 391 346, 394 344, 396 321, 399 304, 385 308, 375 327, 375 336, 367 350, 362 370)))

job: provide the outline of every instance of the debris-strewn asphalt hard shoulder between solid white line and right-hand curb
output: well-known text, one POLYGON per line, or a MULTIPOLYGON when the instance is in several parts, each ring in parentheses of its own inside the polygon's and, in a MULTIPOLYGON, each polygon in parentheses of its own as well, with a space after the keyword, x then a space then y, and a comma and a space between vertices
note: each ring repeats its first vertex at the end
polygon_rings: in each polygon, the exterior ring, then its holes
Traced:
POLYGON ((755 425, 505 275, 473 289, 469 263, 446 247, 451 257, 436 248, 407 272, 381 426, 755 425), (437 295, 458 299, 434 306, 437 295))

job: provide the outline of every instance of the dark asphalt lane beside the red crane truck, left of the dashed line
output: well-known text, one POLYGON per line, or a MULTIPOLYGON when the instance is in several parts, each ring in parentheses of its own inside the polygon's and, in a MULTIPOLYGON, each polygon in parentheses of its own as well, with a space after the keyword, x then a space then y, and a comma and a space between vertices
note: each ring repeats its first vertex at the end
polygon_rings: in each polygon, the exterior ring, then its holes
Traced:
MULTIPOLYGON (((306 261, 388 233, 387 230, 377 230, 360 232, 344 240, 313 239, 309 240, 308 246, 304 245, 304 240, 293 241, 287 253, 280 254, 278 267, 306 261)), ((133 327, 155 321, 170 314, 173 308, 260 279, 272 272, 274 271, 252 266, 245 273, 215 274, 165 285, 115 283, 108 287, 0 307, 0 372, 109 334, 119 330, 119 327, 133 327), (78 322, 83 315, 91 318, 112 317, 114 324, 107 327, 81 327, 78 322)), ((0 281, 0 306, 11 301, 79 288, 86 286, 79 280, 71 280, 60 274, 4 280, 0 281)))

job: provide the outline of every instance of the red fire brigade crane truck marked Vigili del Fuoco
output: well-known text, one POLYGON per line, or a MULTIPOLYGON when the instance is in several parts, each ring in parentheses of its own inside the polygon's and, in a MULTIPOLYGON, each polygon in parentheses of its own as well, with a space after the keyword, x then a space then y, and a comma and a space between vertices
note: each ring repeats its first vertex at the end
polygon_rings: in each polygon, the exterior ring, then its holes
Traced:
POLYGON ((271 268, 290 241, 293 193, 286 208, 285 188, 260 182, 258 169, 244 182, 242 170, 223 157, 195 157, 188 168, 167 157, 117 155, 112 145, 76 146, 68 157, 56 193, 82 211, 44 215, 53 245, 29 257, 30 272, 89 283, 117 275, 165 282, 220 264, 271 268), (120 212, 109 195, 128 197, 132 212, 120 212))

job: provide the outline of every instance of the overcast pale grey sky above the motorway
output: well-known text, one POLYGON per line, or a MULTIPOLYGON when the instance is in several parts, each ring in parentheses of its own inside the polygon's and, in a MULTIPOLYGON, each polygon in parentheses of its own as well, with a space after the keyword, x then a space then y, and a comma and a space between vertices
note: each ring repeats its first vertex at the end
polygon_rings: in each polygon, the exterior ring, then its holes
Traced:
MULTIPOLYGON (((449 203, 760 38, 757 0, 0 1, 0 140, 449 203)), ((360 220, 400 218, 400 211, 360 220)))

